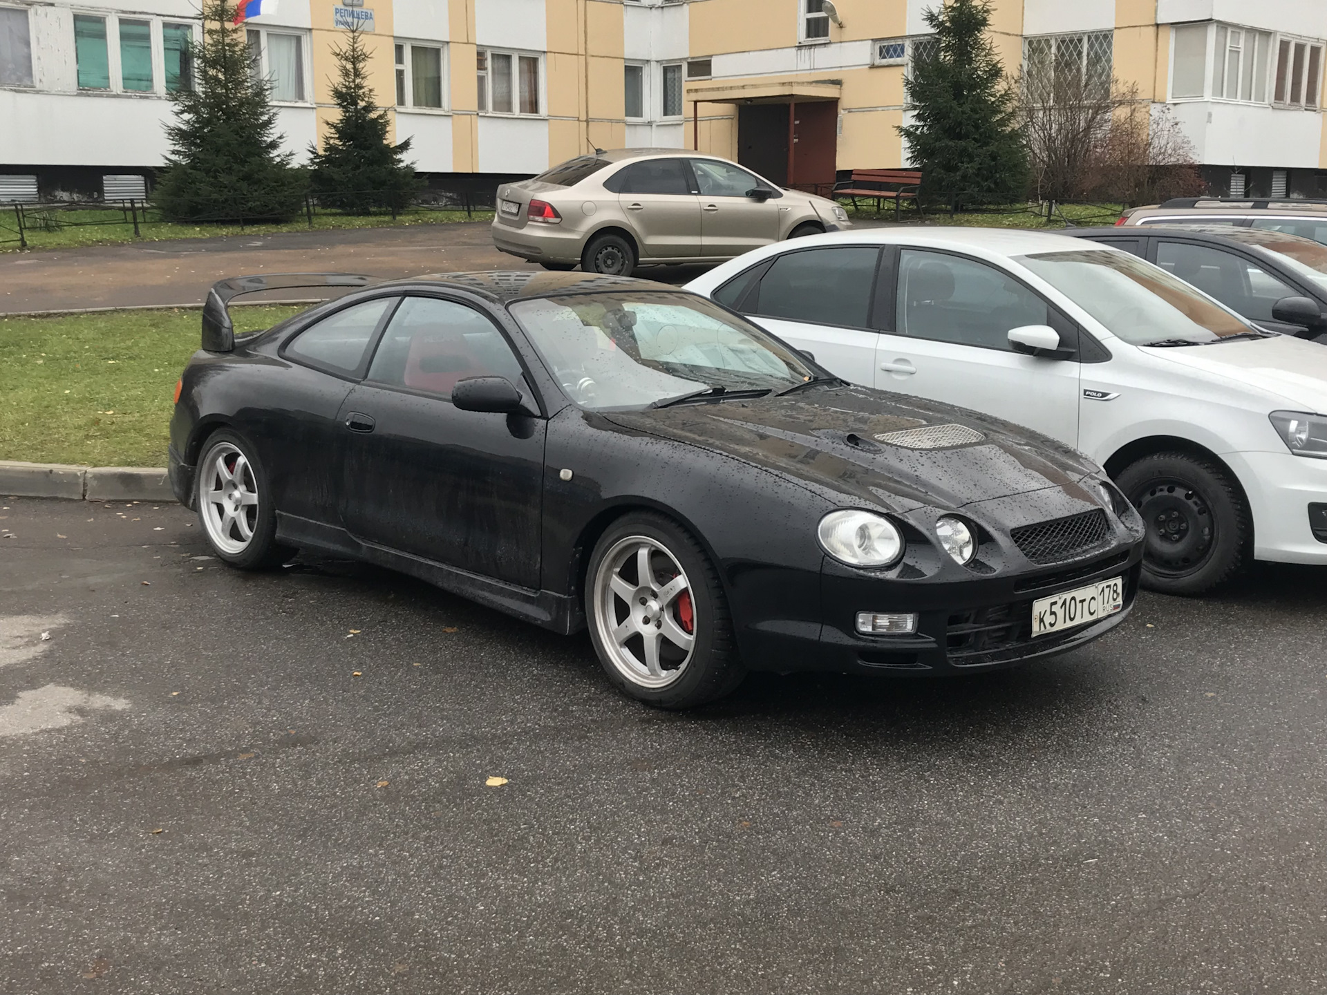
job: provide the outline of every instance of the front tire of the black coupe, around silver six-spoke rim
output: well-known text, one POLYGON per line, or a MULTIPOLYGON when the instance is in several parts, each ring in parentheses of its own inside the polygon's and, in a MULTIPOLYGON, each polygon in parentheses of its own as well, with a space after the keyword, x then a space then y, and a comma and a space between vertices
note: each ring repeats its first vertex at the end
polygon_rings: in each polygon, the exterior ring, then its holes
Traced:
POLYGON ((662 515, 653 512, 624 515, 600 536, 585 573, 585 617, 594 653, 608 679, 630 698, 657 708, 694 708, 717 700, 730 694, 746 675, 738 657, 733 620, 718 572, 701 544, 662 515), (638 565, 640 549, 652 545, 658 549, 649 556, 652 577, 642 585, 640 572, 633 569, 632 564, 638 565), (621 563, 620 569, 614 566, 618 563, 621 563), (675 580, 678 566, 686 582, 682 593, 664 602, 652 600, 646 605, 644 600, 640 601, 642 605, 640 613, 656 612, 653 625, 661 628, 661 635, 656 639, 656 646, 660 647, 656 650, 660 677, 654 678, 640 673, 645 669, 648 655, 644 642, 636 642, 642 638, 638 633, 628 635, 621 646, 610 645, 610 633, 614 629, 634 626, 640 618, 644 618, 644 628, 649 629, 650 616, 637 613, 634 594, 630 600, 621 593, 606 598, 601 596, 605 585, 612 586, 610 580, 614 576, 630 584, 630 576, 634 574, 638 588, 636 593, 649 588, 666 590, 670 581, 675 580), (681 647, 667 642, 667 631, 677 633, 685 629, 687 612, 682 606, 683 597, 687 598, 690 609, 693 643, 687 655, 678 659, 681 647), (610 618, 600 610, 605 601, 612 606, 610 618), (665 621, 670 625, 661 626, 665 621), (670 650, 671 662, 666 658, 670 650), (621 655, 624 651, 630 655, 621 655))

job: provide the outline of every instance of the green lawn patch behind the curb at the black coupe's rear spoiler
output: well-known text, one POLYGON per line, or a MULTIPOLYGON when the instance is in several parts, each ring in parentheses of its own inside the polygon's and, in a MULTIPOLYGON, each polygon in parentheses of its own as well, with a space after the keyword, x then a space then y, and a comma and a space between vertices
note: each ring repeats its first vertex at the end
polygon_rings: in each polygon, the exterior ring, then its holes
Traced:
MULTIPOLYGON (((301 308, 240 306, 238 332, 301 308)), ((0 459, 166 466, 171 397, 198 309, 0 318, 0 459)))

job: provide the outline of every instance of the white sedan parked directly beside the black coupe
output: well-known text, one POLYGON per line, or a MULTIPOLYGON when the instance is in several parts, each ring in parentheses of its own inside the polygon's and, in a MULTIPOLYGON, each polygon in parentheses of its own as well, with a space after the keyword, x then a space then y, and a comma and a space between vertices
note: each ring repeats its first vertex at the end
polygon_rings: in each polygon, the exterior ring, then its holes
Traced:
POLYGON ((1327 564, 1327 349, 1136 256, 1044 232, 889 228, 778 243, 689 289, 844 379, 1082 450, 1141 512, 1157 590, 1208 590, 1250 557, 1327 564))

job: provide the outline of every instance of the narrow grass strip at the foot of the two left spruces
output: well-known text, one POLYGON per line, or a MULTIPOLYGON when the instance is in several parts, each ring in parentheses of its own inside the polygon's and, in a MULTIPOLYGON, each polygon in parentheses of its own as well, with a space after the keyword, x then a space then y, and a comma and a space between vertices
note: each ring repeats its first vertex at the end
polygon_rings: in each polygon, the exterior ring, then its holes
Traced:
MULTIPOLYGON (((35 215, 35 212, 32 212, 35 215)), ((218 235, 271 235, 283 231, 311 231, 305 218, 296 218, 285 224, 176 224, 162 220, 139 220, 138 231, 141 237, 134 237, 134 226, 130 220, 118 220, 121 216, 129 218, 121 211, 52 211, 49 218, 58 227, 50 231, 41 228, 28 228, 28 248, 70 248, 74 245, 106 245, 122 241, 161 241, 165 239, 211 239, 218 235), (85 224, 78 222, 107 222, 113 224, 85 224)), ((155 218, 155 212, 150 215, 155 218)), ((342 214, 316 214, 313 215, 313 231, 330 228, 389 228, 415 224, 451 224, 455 222, 491 222, 492 211, 475 211, 472 218, 467 218, 464 211, 430 211, 415 208, 397 215, 342 215, 342 214)), ((31 223, 29 218, 29 223, 31 223)), ((17 251, 19 230, 13 211, 0 208, 0 251, 17 251)))

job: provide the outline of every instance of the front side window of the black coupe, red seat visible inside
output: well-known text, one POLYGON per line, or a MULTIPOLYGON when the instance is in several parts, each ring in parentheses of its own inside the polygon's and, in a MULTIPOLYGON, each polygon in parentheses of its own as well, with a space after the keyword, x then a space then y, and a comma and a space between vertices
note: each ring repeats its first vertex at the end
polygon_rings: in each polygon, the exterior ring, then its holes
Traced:
POLYGON ((437 297, 406 297, 382 336, 369 379, 451 397, 466 377, 520 379, 520 361, 494 324, 474 308, 437 297))

